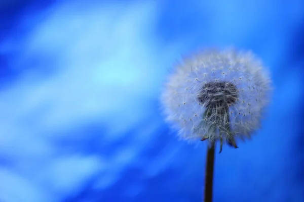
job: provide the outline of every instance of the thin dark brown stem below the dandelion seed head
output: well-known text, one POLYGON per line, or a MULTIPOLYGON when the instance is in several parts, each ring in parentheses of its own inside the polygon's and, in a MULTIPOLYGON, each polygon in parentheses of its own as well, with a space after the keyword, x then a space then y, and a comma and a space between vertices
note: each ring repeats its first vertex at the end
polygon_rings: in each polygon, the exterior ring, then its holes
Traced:
POLYGON ((212 202, 214 147, 215 144, 212 143, 207 150, 204 202, 212 202))

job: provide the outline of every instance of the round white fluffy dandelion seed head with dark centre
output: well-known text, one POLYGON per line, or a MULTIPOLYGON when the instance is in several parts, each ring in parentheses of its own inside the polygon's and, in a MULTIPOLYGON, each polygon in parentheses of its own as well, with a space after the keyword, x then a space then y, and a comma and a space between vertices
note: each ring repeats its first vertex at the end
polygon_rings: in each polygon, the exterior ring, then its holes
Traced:
POLYGON ((162 104, 182 139, 229 142, 260 127, 271 88, 267 70, 251 52, 200 52, 169 75, 162 104))

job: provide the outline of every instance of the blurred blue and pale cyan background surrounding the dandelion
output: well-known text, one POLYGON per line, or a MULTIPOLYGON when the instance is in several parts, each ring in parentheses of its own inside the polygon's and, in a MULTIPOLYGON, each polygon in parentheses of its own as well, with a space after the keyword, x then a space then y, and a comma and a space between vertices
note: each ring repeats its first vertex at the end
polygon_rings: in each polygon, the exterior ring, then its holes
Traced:
POLYGON ((198 48, 271 70, 262 129, 215 157, 214 201, 304 201, 304 3, 0 2, 0 201, 202 201, 206 145, 179 141, 159 94, 198 48))

